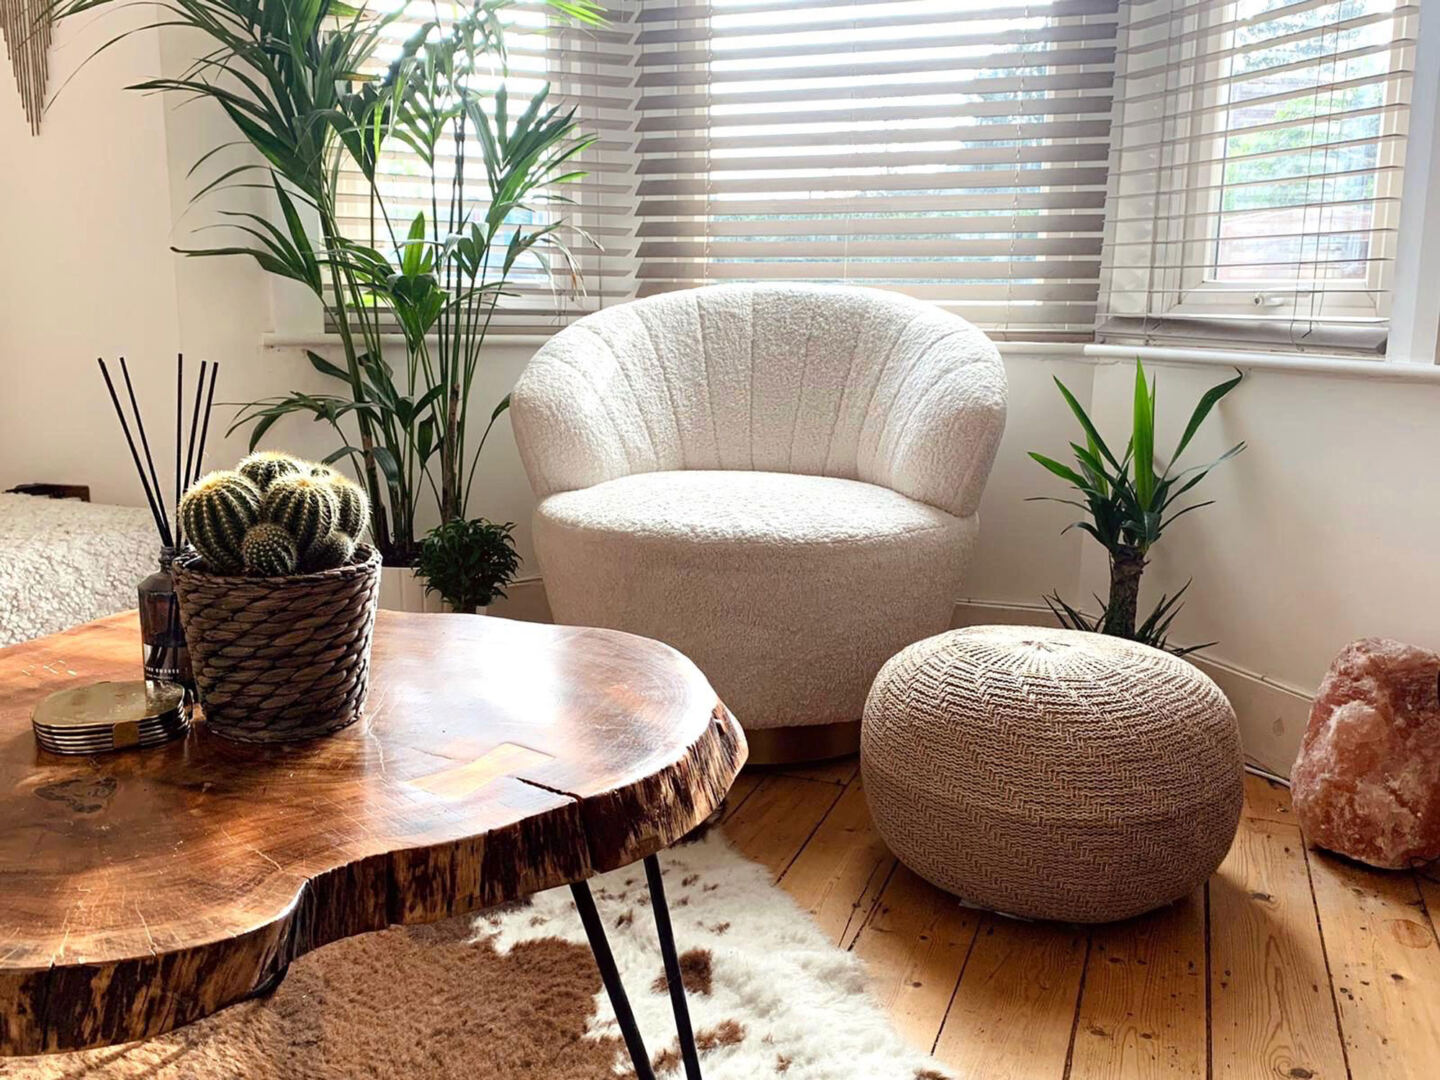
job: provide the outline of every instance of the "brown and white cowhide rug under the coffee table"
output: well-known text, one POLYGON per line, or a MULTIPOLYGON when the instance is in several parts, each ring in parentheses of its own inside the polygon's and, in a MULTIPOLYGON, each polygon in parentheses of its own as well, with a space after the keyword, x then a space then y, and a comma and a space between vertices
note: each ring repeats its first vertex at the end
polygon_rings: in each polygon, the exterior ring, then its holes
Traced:
MULTIPOLYGON (((706 1080, 945 1080, 769 873, 717 832, 662 855, 706 1080)), ((645 1041, 683 1076, 641 867, 592 883, 645 1041)), ((148 1043, 0 1060, 6 1080, 634 1076, 569 890, 297 960, 275 994, 148 1043)))

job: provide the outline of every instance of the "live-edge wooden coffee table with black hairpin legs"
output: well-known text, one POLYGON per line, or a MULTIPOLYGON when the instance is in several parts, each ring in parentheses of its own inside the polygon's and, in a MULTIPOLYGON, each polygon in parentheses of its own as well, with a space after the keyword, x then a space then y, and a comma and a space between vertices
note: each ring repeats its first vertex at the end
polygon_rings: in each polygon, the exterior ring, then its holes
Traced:
POLYGON ((36 747, 37 701, 138 661, 134 613, 0 649, 0 1054, 156 1035, 327 942, 567 884, 648 1080, 585 884, 642 860, 698 1077, 655 852, 720 804, 746 746, 688 660, 613 631, 382 612, 366 717, 334 736, 36 747))

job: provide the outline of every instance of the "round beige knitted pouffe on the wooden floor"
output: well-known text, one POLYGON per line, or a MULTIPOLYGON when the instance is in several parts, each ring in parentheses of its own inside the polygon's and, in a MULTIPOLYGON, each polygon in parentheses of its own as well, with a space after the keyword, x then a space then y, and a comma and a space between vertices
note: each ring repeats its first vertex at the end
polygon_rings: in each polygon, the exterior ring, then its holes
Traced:
POLYGON ((968 903, 1096 923, 1187 896, 1243 799, 1220 688, 1119 638, 972 626, 893 657, 870 690, 861 772, 901 863, 968 903))

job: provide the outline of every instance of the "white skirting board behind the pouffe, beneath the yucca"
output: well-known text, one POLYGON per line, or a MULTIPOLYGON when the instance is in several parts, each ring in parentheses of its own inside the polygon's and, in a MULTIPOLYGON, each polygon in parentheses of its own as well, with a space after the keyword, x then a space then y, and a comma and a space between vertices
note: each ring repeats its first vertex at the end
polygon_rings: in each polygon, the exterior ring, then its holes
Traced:
MULTIPOLYGON (((981 626, 1012 624, 1021 626, 1054 626, 1056 618, 1044 605, 992 603, 960 600, 955 605, 950 625, 981 626)), ((1310 719, 1313 694, 1299 687, 1284 685, 1254 671, 1246 671, 1228 661, 1204 652, 1188 660, 1215 680, 1240 720, 1240 739, 1246 757, 1267 772, 1289 776, 1300 736, 1310 719)))

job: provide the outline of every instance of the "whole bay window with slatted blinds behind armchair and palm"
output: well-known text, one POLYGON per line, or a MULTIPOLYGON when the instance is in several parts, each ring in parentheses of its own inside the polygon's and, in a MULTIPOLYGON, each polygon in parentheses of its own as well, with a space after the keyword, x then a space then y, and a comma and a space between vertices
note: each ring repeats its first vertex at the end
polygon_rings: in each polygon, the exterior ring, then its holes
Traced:
MULTIPOLYGON (((395 49, 436 10, 379 3, 416 10, 395 49)), ((818 281, 929 300, 996 338, 1385 348, 1418 4, 606 7, 603 29, 540 0, 514 13, 514 84, 549 79, 599 143, 563 207, 583 295, 537 266, 500 330, 818 281)), ((393 145, 382 189, 422 210, 393 145)))

